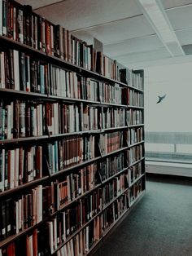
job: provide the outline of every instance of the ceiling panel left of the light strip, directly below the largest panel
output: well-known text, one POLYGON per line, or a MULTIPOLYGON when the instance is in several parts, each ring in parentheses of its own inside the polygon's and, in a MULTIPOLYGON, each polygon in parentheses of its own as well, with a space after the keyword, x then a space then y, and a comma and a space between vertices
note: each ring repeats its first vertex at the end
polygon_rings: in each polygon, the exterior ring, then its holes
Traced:
POLYGON ((141 15, 127 20, 120 20, 112 24, 81 30, 73 34, 81 39, 94 37, 103 42, 103 44, 107 44, 130 38, 140 38, 154 33, 148 21, 141 15))

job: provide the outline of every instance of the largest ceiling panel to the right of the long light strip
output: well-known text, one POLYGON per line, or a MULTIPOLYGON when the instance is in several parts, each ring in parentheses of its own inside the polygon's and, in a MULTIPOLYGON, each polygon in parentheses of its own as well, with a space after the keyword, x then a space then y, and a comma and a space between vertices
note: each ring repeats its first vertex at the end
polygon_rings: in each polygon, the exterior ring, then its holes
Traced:
POLYGON ((192 5, 166 11, 173 29, 192 27, 192 5))

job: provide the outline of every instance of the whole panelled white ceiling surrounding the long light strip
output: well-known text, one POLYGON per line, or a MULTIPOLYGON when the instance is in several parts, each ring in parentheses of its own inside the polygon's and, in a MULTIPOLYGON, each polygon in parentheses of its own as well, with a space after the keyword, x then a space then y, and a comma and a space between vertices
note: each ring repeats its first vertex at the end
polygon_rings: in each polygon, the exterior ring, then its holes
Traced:
MULTIPOLYGON (((138 0, 18 0, 77 38, 103 42, 105 55, 129 68, 192 61, 192 0, 161 1, 183 55, 171 55, 138 0)), ((174 52, 174 46, 170 46, 174 52)))

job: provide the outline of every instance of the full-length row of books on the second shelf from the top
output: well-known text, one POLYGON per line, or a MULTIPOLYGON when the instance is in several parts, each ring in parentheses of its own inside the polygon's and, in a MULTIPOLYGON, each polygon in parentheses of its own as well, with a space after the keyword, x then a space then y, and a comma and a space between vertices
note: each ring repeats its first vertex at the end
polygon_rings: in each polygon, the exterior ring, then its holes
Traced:
POLYGON ((16 50, 0 52, 0 88, 23 90, 63 98, 89 99, 109 104, 142 106, 142 94, 89 77, 78 76, 16 50))

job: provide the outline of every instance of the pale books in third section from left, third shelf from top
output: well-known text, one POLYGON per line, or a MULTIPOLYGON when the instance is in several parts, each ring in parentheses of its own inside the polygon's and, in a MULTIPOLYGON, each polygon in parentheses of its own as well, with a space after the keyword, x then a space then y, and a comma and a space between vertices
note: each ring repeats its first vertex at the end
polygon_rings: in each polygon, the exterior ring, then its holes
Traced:
POLYGON ((103 129, 125 126, 124 108, 103 108, 102 126, 103 129))

